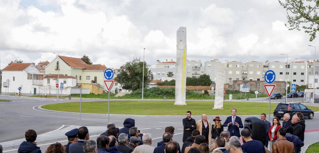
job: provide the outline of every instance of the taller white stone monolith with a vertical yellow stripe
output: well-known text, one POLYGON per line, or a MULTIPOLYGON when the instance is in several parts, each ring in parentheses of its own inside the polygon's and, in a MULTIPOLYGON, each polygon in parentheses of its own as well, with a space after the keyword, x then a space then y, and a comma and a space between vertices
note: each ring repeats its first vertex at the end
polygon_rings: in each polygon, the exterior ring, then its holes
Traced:
POLYGON ((186 27, 180 27, 177 32, 176 45, 176 80, 174 105, 186 105, 186 27))

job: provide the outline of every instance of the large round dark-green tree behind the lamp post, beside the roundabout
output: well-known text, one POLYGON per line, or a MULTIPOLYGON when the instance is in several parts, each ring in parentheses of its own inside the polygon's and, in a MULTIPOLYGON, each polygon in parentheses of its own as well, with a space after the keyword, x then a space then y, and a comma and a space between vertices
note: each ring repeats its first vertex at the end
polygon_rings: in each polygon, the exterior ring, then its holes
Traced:
MULTIPOLYGON (((147 87, 153 79, 151 70, 146 67, 144 63, 144 87, 147 87)), ((142 89, 143 84, 143 62, 139 63, 126 63, 120 67, 119 74, 117 74, 115 80, 122 85, 123 89, 135 91, 142 89)))

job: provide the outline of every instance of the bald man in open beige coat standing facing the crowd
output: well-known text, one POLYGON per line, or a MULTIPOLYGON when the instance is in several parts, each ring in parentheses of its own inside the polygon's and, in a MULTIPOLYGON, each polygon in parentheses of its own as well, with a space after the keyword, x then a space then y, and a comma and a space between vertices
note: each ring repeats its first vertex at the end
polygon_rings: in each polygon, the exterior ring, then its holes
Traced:
POLYGON ((200 135, 205 136, 205 143, 209 145, 211 143, 211 122, 207 120, 206 114, 203 114, 202 119, 197 121, 196 127, 200 135))

